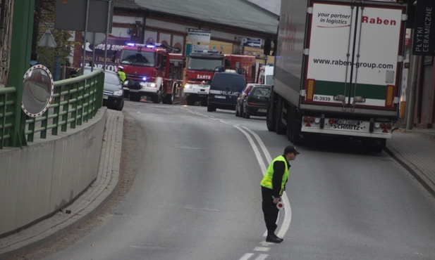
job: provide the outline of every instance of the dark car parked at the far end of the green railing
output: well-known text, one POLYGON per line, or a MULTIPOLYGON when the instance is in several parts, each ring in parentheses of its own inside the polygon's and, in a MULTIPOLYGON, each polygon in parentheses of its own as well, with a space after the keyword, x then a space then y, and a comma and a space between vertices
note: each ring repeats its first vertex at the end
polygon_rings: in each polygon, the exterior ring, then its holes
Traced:
MULTIPOLYGON (((94 69, 98 70, 98 69, 94 69)), ((85 74, 91 72, 91 67, 85 67, 85 74)), ((123 110, 123 86, 117 73, 110 70, 104 72, 103 105, 115 110, 123 110)))

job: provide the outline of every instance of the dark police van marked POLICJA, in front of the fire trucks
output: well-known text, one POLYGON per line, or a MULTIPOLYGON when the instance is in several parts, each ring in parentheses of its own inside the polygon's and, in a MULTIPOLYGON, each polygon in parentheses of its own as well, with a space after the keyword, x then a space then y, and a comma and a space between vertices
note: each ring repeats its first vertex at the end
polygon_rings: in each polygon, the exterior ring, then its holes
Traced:
POLYGON ((216 108, 235 110, 235 101, 245 86, 243 74, 216 72, 210 83, 207 111, 216 111, 216 108))

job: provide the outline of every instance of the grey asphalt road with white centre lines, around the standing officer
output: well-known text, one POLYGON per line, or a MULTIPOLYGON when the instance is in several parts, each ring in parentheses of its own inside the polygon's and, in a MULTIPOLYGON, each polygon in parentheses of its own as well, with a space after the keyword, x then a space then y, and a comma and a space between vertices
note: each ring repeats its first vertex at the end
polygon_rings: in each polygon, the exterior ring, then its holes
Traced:
POLYGON ((298 147, 274 245, 259 181, 286 136, 199 106, 127 101, 123 113, 123 194, 44 259, 435 259, 434 197, 385 152, 298 147))

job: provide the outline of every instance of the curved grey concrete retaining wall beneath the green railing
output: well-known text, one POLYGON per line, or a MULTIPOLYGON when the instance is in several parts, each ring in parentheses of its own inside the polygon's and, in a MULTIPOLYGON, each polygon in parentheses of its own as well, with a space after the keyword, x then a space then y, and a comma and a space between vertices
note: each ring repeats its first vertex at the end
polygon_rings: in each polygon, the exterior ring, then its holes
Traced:
POLYGON ((75 200, 98 174, 107 112, 68 134, 0 150, 0 236, 44 219, 75 200))

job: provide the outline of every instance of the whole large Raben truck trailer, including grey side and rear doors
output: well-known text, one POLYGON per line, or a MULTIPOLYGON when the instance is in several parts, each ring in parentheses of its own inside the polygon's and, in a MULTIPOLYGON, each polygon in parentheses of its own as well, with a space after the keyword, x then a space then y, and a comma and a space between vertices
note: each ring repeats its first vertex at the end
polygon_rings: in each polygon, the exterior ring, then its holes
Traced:
POLYGON ((282 1, 269 131, 383 149, 398 118, 406 17, 396 2, 282 1))

